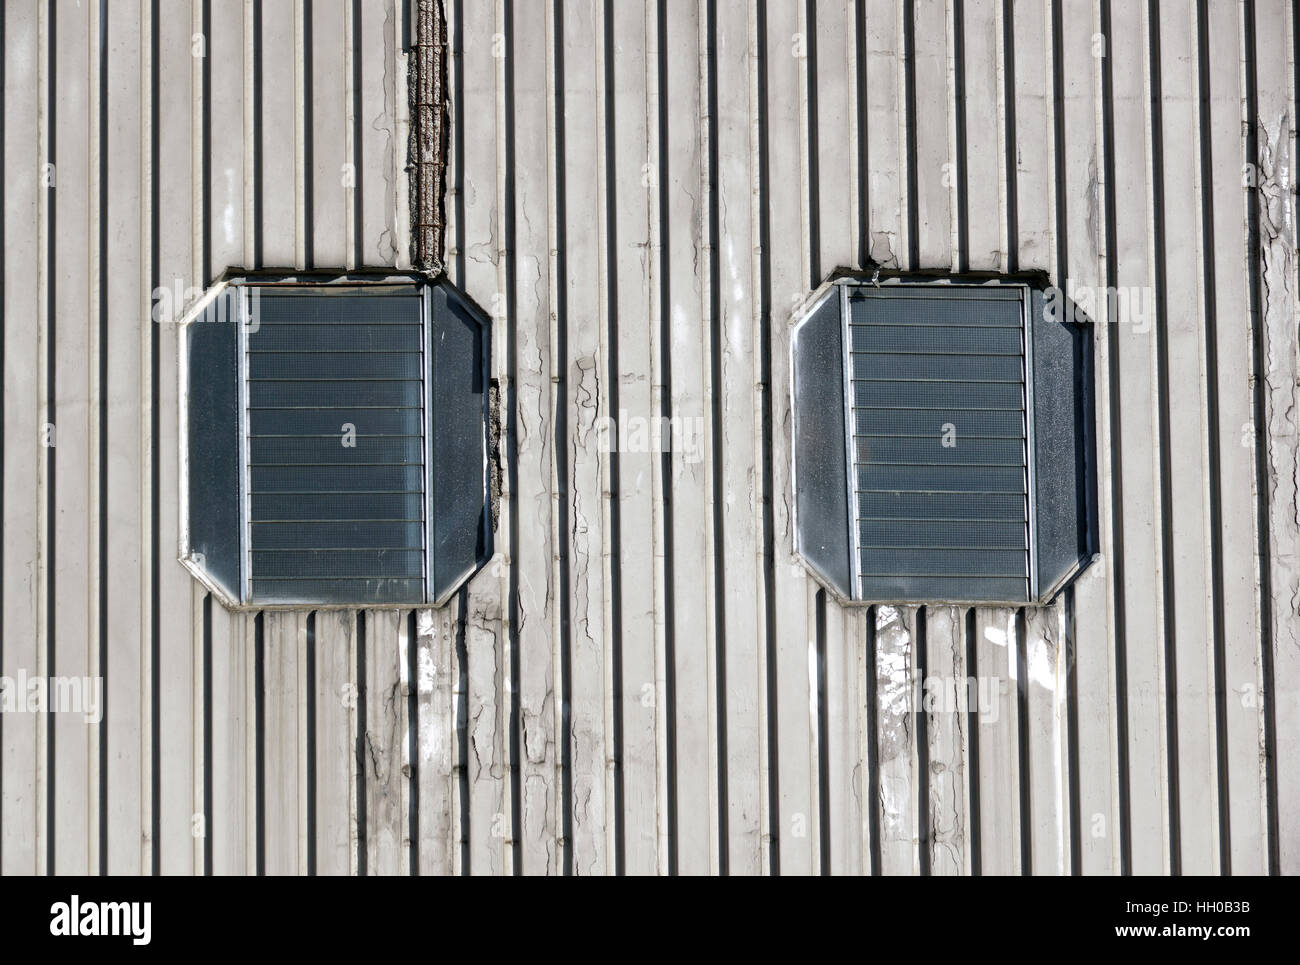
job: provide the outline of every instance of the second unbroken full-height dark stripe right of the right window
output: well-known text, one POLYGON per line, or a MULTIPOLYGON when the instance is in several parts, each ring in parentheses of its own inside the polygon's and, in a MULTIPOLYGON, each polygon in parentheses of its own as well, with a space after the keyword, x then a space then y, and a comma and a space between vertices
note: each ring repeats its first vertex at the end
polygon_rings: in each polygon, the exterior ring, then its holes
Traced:
POLYGON ((1161 581, 1165 618, 1165 753, 1169 795, 1169 870, 1182 874, 1182 821, 1178 761, 1178 631, 1174 626, 1174 497, 1170 449, 1169 303, 1165 263, 1165 127, 1160 62, 1160 0, 1147 0, 1148 78, 1150 96, 1152 261, 1156 289, 1156 393, 1160 445, 1161 581))

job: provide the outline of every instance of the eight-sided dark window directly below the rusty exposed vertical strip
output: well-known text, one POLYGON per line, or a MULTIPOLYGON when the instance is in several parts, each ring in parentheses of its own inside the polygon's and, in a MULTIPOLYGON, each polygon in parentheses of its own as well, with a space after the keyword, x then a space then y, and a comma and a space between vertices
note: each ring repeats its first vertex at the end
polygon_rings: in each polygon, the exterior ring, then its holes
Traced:
POLYGON ((488 320, 452 286, 231 278, 181 345, 182 562, 228 605, 439 603, 486 558, 488 320))

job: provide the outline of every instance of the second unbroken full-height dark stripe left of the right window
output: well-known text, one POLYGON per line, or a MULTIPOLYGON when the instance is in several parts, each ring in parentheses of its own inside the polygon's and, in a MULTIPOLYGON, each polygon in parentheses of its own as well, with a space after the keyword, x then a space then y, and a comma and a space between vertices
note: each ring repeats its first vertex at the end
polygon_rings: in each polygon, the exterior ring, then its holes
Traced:
POLYGON ((720 215, 718 208, 718 4, 707 0, 705 7, 705 78, 707 90, 708 126, 708 365, 712 393, 708 401, 712 420, 712 463, 710 485, 712 488, 712 531, 714 531, 714 607, 716 611, 716 649, 714 670, 714 702, 718 710, 718 871, 731 874, 729 815, 727 799, 727 576, 724 566, 723 540, 723 333, 722 333, 722 291, 718 284, 718 246, 722 239, 720 215))

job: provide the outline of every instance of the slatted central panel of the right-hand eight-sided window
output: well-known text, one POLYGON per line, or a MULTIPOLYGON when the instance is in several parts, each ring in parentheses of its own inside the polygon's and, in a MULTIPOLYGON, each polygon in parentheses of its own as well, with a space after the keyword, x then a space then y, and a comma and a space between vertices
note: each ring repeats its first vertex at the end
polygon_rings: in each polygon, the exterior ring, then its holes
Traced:
POLYGON ((1030 598, 1023 293, 846 294, 864 600, 1030 598))

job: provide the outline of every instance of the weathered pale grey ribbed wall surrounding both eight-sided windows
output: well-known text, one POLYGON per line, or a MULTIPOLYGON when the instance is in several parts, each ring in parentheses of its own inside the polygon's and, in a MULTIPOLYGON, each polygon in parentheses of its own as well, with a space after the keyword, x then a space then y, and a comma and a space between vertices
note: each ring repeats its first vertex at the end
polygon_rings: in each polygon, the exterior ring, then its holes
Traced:
POLYGON ((151 291, 406 267, 402 4, 4 5, 0 668, 107 715, 0 715, 0 869, 1300 871, 1294 5, 443 13, 498 554, 436 611, 237 615, 174 559, 151 291), (792 311, 870 261, 1138 299, 1054 606, 793 558, 792 311))

